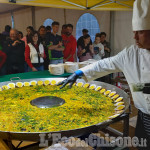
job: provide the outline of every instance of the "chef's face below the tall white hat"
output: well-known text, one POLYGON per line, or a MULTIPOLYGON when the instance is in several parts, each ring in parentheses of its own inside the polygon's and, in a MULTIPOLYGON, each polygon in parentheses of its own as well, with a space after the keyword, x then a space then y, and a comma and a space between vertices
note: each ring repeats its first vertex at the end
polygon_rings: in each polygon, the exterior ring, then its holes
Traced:
POLYGON ((134 31, 134 39, 139 48, 150 50, 150 30, 134 31))

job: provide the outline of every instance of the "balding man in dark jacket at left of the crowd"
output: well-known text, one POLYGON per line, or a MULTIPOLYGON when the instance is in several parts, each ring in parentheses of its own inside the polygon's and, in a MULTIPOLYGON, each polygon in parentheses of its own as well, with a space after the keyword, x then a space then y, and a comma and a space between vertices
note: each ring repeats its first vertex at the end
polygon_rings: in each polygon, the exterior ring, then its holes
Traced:
POLYGON ((4 43, 4 52, 7 54, 7 74, 24 72, 25 43, 18 39, 17 30, 10 30, 10 39, 4 43))

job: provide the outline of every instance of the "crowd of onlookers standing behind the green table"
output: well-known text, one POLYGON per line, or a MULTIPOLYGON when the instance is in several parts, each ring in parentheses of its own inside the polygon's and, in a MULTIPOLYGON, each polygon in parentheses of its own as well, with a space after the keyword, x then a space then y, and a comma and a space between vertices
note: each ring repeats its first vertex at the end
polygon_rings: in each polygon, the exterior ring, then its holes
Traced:
POLYGON ((49 64, 110 56, 105 32, 97 33, 92 43, 87 29, 82 30, 83 35, 76 41, 72 24, 64 24, 61 35, 58 35, 59 28, 57 21, 52 26, 40 26, 38 31, 28 26, 23 36, 21 31, 6 25, 0 34, 0 75, 43 71, 48 70, 49 64))

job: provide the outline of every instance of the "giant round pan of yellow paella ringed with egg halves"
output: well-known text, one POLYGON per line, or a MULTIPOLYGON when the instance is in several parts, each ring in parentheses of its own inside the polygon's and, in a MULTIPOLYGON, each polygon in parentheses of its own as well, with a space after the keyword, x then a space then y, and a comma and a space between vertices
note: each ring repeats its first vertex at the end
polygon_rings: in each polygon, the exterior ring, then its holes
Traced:
POLYGON ((129 107, 129 96, 116 86, 79 79, 72 89, 59 89, 56 84, 62 80, 1 82, 0 138, 39 141, 40 133, 81 136, 111 123, 129 107))

